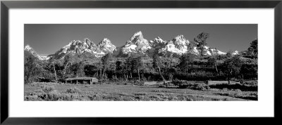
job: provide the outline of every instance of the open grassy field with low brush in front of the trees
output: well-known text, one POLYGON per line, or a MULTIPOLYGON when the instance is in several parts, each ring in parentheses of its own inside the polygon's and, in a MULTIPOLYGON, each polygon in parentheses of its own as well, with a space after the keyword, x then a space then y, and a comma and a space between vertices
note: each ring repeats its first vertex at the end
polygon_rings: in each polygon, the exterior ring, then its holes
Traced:
MULTIPOLYGON (((243 88, 245 87, 247 86, 243 88)), ((25 84, 24 98, 25 100, 257 100, 257 90, 241 91, 239 88, 237 86, 232 89, 228 88, 228 85, 220 85, 210 86, 207 90, 195 90, 176 86, 160 88, 159 85, 35 83, 25 84)))

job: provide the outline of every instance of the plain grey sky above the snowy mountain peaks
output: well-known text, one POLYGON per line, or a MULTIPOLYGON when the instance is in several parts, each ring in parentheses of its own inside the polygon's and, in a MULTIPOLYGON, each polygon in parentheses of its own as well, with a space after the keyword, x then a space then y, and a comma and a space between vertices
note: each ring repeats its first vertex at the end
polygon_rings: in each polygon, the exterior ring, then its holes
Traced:
POLYGON ((161 37, 171 40, 178 34, 193 41, 201 32, 209 33, 207 46, 218 48, 220 51, 244 51, 250 42, 257 39, 257 25, 187 25, 187 24, 89 24, 89 25, 25 25, 25 45, 29 44, 40 55, 49 55, 59 51, 72 40, 83 41, 89 38, 96 44, 104 38, 111 40, 116 47, 123 46, 137 31, 143 37, 152 40, 161 37))

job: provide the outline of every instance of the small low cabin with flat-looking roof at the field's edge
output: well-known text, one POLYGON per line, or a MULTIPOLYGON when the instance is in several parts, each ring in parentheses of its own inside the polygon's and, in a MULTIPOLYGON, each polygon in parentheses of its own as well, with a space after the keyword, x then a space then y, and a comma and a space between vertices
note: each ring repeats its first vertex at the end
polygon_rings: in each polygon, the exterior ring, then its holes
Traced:
POLYGON ((75 77, 65 79, 66 84, 93 84, 97 83, 98 79, 95 77, 75 77))

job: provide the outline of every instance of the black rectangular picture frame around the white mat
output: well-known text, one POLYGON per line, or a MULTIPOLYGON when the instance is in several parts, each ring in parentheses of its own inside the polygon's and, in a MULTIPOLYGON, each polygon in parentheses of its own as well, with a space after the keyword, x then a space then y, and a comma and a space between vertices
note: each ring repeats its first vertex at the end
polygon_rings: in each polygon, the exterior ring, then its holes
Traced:
MULTIPOLYGON (((282 1, 1 1, 1 124, 123 124, 128 118, 13 118, 8 117, 8 13, 9 8, 274 8, 274 117, 249 118, 254 121, 280 121, 281 122, 281 95, 282 95, 282 1)), ((269 76, 271 77, 271 76, 269 76)), ((24 108, 24 107, 23 107, 24 108)), ((262 107, 263 108, 263 107, 262 107)), ((138 124, 157 121, 158 123, 187 122, 187 118, 129 118, 138 124)), ((190 118, 189 118, 190 119, 190 118)), ((196 121, 220 122, 218 118, 196 121)), ((233 118, 233 123, 240 120, 233 118)), ((245 119, 245 118, 243 118, 245 119)), ((190 120, 189 120, 190 121, 190 120)), ((244 121, 245 122, 245 121, 244 121)))

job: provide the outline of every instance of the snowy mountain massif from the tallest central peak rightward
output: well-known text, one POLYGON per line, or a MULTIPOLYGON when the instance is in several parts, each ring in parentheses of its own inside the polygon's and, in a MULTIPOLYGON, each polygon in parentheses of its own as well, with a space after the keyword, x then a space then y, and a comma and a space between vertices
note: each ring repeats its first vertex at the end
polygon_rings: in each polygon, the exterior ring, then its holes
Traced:
MULTIPOLYGON (((191 48, 190 44, 195 43, 185 39, 182 34, 176 36, 170 41, 164 41, 161 37, 147 41, 147 39, 143 37, 142 32, 139 31, 133 34, 133 37, 130 37, 130 39, 126 41, 125 46, 122 46, 121 51, 118 52, 118 56, 126 57, 126 55, 129 56, 132 53, 145 54, 145 52, 149 52, 164 55, 166 57, 172 57, 173 54, 182 55, 183 53, 187 53, 188 47, 191 48)), ((196 55, 200 55, 196 46, 192 46, 190 51, 196 55)), ((204 46, 204 51, 206 51, 204 55, 226 54, 216 48, 210 48, 209 46, 204 46)))

